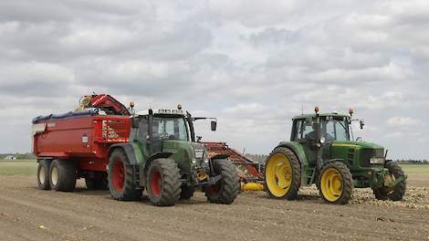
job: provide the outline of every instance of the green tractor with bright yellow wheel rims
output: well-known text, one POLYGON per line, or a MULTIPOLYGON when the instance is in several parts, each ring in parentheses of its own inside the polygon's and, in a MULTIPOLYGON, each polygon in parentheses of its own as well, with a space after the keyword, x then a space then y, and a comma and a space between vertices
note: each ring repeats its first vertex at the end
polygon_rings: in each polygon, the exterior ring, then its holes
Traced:
POLYGON ((290 141, 282 141, 267 157, 267 193, 274 198, 296 199, 301 185, 316 183, 322 200, 347 204, 353 187, 371 187, 379 200, 399 201, 406 188, 401 167, 386 160, 382 146, 352 141, 350 115, 327 113, 293 119, 290 141))

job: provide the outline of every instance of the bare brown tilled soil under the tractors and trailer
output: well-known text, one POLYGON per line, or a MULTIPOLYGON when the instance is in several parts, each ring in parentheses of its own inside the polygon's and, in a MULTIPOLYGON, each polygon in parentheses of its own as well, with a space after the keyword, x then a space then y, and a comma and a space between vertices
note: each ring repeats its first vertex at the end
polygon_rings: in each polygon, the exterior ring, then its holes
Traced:
POLYGON ((204 194, 174 207, 118 202, 107 191, 40 191, 35 176, 0 176, 1 240, 429 240, 429 180, 409 180, 403 202, 354 190, 351 204, 321 204, 314 187, 297 201, 265 192, 234 204, 204 194))

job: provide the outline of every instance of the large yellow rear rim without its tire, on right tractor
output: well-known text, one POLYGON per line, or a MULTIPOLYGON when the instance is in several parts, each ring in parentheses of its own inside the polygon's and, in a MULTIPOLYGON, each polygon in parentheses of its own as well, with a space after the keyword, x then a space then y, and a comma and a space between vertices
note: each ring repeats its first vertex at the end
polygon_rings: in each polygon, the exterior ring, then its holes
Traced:
POLYGON ((266 182, 271 194, 277 197, 288 194, 292 183, 292 166, 287 156, 277 153, 268 160, 266 182))

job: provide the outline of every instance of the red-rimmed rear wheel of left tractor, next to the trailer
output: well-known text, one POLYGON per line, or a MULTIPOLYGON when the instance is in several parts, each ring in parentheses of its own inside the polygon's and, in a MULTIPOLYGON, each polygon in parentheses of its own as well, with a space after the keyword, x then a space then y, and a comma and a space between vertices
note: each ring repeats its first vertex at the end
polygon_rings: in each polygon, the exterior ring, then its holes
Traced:
POLYGON ((116 149, 110 153, 108 181, 110 195, 115 200, 139 200, 142 191, 134 183, 133 170, 127 154, 116 149))

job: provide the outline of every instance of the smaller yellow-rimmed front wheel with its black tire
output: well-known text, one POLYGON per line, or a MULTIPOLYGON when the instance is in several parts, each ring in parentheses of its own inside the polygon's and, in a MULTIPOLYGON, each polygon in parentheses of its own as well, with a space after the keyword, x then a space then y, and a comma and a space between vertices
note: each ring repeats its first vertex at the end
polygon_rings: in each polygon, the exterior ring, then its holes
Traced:
POLYGON ((353 191, 351 172, 342 162, 328 162, 319 174, 319 192, 328 204, 348 204, 353 191))

